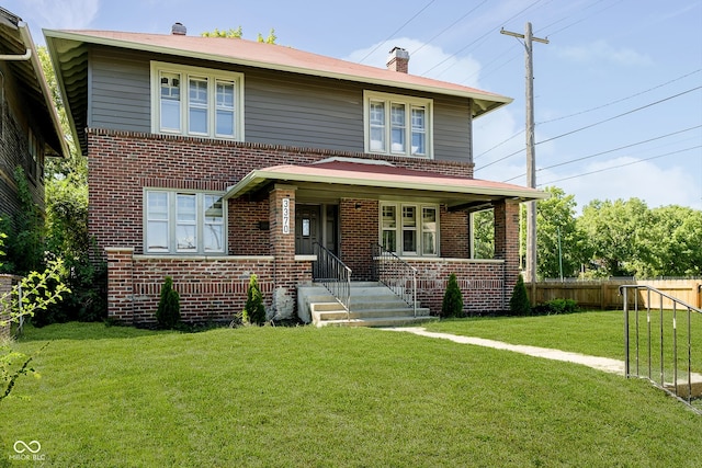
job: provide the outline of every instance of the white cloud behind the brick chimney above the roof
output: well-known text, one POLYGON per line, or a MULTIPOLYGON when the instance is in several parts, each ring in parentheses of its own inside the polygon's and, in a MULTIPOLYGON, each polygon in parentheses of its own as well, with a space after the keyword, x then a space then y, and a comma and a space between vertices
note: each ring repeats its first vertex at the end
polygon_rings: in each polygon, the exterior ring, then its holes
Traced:
POLYGON ((473 57, 454 57, 441 47, 409 37, 397 37, 354 50, 344 60, 363 60, 363 65, 385 68, 388 53, 396 46, 409 52, 410 73, 479 88, 480 64, 473 57))

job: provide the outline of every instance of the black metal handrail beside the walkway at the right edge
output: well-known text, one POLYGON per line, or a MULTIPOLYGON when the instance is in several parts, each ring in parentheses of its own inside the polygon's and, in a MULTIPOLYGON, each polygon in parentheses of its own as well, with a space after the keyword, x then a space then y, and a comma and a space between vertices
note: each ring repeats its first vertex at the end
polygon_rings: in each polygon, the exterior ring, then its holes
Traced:
MULTIPOLYGON (((693 372, 692 372, 692 315, 693 313, 700 313, 702 315, 702 309, 699 309, 697 307, 693 307, 687 303, 684 303, 683 300, 680 300, 676 297, 672 297, 661 290, 656 289, 655 287, 652 286, 647 286, 647 285, 623 285, 620 286, 619 288, 620 294, 623 296, 623 301, 624 301, 624 349, 625 349, 625 362, 624 362, 624 372, 625 372, 625 376, 626 378, 629 378, 630 376, 634 376, 634 377, 643 377, 643 378, 647 378, 649 381, 652 381, 654 385, 656 385, 657 387, 664 389, 665 391, 667 391, 668 393, 672 395, 673 397, 676 397, 677 399, 686 402, 687 404, 691 404, 691 400, 693 398, 692 395, 692 380, 693 380, 693 372), (630 324, 630 304, 629 304, 629 292, 632 290, 634 292, 634 313, 635 313, 635 318, 634 318, 634 323, 630 324), (638 299, 638 290, 645 290, 646 292, 646 304, 645 307, 642 306, 642 311, 645 310, 646 312, 646 329, 645 329, 645 335, 642 336, 642 333, 639 333, 639 328, 643 326, 639 326, 639 299, 638 299), (658 321, 659 321, 659 327, 658 327, 658 336, 653 336, 654 331, 652 330, 652 319, 656 319, 656 317, 654 317, 652 315, 652 294, 655 295, 658 299, 659 299, 659 304, 658 304, 658 321), (666 368, 665 368, 665 364, 666 364, 666 356, 665 355, 665 347, 664 347, 664 336, 665 336, 665 317, 664 317, 664 299, 667 299, 670 301, 671 304, 671 309, 666 309, 668 311, 672 312, 672 320, 671 320, 671 333, 672 333, 672 345, 669 347, 672 347, 672 383, 666 383, 666 368), (684 313, 684 311, 687 311, 687 336, 682 336, 683 340, 687 339, 687 343, 684 343, 684 345, 687 345, 687 368, 683 368, 681 370, 683 370, 687 374, 687 395, 680 395, 680 385, 679 385, 679 380, 678 380, 678 312, 682 311, 682 313, 684 313), (631 347, 632 347, 632 340, 631 340, 631 331, 634 331, 634 350, 635 350, 635 355, 633 356, 634 358, 634 363, 635 363, 635 369, 631 368, 631 347), (645 342, 645 346, 646 346, 646 354, 645 356, 642 357, 641 355, 641 350, 639 347, 642 346, 642 341, 645 342), (656 356, 656 358, 659 361, 659 369, 658 369, 658 378, 654 378, 653 376, 653 347, 657 346, 658 347, 658 355, 656 356), (647 372, 642 374, 642 365, 641 365, 641 361, 645 359, 647 363, 647 372)), ((684 334, 684 332, 683 332, 684 334)), ((684 367, 684 366, 683 366, 684 367)), ((669 376, 668 376, 669 377, 669 376)), ((697 385, 702 385, 702 376, 700 376, 699 374, 694 374, 695 377, 695 386, 697 385)), ((684 383, 684 380, 683 380, 684 383)), ((699 396, 698 396, 699 397, 699 396)), ((695 409, 695 408, 693 408, 695 409)), ((698 412, 702 412, 699 409, 695 409, 695 411, 698 412)))

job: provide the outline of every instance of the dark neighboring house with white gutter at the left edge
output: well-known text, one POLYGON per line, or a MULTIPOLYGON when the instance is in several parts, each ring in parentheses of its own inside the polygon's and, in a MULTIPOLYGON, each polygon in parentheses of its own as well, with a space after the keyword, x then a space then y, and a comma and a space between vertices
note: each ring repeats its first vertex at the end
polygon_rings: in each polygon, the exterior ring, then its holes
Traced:
POLYGON ((68 150, 30 30, 0 8, 0 217, 21 206, 14 171, 22 168, 44 208, 44 159, 68 150))

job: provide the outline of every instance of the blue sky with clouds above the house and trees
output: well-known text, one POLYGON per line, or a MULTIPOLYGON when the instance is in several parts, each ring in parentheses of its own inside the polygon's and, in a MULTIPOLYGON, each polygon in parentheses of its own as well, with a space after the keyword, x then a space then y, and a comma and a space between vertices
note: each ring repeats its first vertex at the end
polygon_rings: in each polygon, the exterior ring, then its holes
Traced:
POLYGON ((524 44, 533 35, 536 186, 649 208, 702 209, 700 0, 0 0, 37 45, 43 28, 189 35, 241 26, 256 39, 512 98, 474 122, 476 179, 526 185, 524 44))

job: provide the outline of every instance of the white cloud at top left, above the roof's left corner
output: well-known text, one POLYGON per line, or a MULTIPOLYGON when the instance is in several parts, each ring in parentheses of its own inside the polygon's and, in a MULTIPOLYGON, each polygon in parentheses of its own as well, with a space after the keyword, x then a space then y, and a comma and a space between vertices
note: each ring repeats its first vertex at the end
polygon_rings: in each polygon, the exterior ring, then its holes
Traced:
POLYGON ((25 0, 42 27, 82 30, 98 15, 100 0, 25 0))

